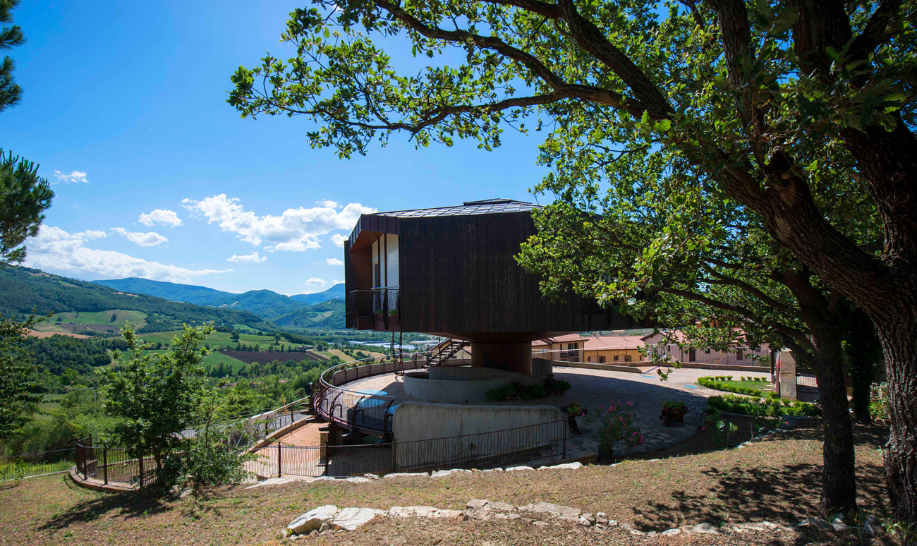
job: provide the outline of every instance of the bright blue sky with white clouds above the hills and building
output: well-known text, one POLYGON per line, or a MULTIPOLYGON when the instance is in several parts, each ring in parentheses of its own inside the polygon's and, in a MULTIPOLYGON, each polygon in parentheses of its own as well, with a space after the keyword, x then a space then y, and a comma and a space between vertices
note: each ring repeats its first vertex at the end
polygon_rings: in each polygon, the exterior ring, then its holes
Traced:
POLYGON ((24 95, 0 113, 0 148, 39 163, 56 193, 25 265, 317 292, 344 278, 336 240, 360 212, 532 200, 537 133, 505 133, 490 152, 393 137, 339 160, 309 147, 304 118, 239 117, 230 74, 291 54, 279 39, 297 6, 23 1, 28 41, 8 53, 24 95))

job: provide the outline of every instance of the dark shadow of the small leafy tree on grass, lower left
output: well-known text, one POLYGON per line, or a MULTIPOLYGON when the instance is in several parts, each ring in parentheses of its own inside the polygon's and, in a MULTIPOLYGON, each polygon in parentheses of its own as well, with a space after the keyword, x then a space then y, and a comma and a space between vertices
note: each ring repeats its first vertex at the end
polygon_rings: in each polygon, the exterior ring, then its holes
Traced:
MULTIPOLYGON (((70 479, 66 480, 70 488, 78 488, 70 479)), ((77 523, 86 523, 114 513, 121 518, 144 518, 169 509, 168 502, 173 500, 171 494, 163 495, 155 491, 129 491, 93 496, 79 502, 51 518, 39 527, 42 530, 59 530, 77 523)))

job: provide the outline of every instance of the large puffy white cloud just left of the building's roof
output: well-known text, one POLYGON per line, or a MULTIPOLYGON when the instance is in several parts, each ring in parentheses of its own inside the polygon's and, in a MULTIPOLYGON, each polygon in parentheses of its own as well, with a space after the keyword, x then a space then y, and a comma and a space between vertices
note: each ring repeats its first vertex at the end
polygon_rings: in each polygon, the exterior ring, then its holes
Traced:
POLYGON ((359 203, 341 207, 324 201, 320 206, 288 208, 280 216, 260 217, 245 210, 238 198, 229 198, 226 194, 212 195, 201 201, 183 199, 182 206, 205 217, 207 223, 218 224, 223 231, 236 233, 241 240, 255 246, 263 243, 264 250, 269 252, 302 252, 320 248, 320 237, 336 229, 353 228, 359 215, 376 212, 375 208, 359 203))

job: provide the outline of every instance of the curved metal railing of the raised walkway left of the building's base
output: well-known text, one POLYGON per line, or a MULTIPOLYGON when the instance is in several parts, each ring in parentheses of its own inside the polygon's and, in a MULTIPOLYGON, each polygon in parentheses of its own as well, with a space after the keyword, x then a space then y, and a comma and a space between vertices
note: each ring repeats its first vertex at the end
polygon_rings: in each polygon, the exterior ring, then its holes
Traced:
POLYGON ((433 351, 402 352, 344 362, 323 372, 312 390, 315 415, 342 429, 368 434, 392 432, 397 405, 392 396, 370 389, 354 390, 340 385, 384 373, 422 368, 433 351))

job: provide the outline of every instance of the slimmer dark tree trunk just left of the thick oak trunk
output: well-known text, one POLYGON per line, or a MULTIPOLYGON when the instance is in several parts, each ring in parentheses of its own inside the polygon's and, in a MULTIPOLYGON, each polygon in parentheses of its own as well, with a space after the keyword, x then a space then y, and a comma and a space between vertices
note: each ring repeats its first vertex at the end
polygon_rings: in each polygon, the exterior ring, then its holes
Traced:
POLYGON ((821 511, 856 512, 856 462, 853 423, 847 405, 844 353, 834 324, 812 329, 812 368, 818 380, 823 414, 823 472, 821 511))

